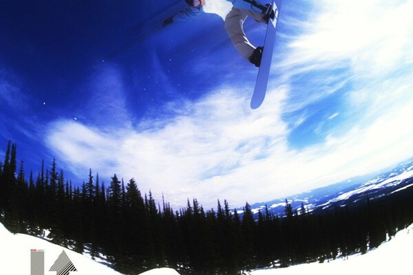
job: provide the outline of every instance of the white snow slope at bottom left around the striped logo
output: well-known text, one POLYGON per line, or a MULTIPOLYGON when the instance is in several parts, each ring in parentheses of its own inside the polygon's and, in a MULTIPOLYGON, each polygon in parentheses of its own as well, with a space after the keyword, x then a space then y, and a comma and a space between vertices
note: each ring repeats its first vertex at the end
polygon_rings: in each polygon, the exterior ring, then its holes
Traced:
MULTIPOLYGON (((72 275, 120 274, 112 270, 112 268, 90 259, 88 256, 62 248, 44 239, 26 234, 12 234, 0 223, 0 274, 30 274, 31 250, 44 250, 45 275, 56 274, 56 272, 49 272, 49 270, 63 250, 76 267, 77 272, 70 272, 72 275)), ((179 275, 178 272, 169 268, 149 270, 149 272, 144 272, 143 274, 179 275)))

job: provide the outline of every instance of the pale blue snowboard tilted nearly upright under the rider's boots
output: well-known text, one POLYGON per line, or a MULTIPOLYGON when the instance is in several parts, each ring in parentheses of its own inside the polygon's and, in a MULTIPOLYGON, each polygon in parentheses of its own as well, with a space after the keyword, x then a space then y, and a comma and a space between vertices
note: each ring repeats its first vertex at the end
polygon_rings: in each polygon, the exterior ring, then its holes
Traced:
POLYGON ((273 10, 275 17, 269 19, 267 30, 264 39, 264 50, 262 51, 261 64, 258 69, 257 81, 251 98, 251 109, 257 109, 261 106, 265 98, 265 93, 268 85, 268 76, 270 75, 271 61, 273 59, 273 51, 275 45, 275 28, 277 27, 278 8, 273 1, 273 10))

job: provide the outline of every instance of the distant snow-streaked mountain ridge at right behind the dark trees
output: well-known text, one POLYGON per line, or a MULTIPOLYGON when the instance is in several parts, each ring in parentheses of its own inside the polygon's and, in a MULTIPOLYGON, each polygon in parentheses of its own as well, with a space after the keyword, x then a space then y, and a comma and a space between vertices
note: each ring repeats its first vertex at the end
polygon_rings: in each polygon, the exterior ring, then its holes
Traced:
MULTIPOLYGON (((293 209, 301 208, 302 203, 306 210, 317 211, 363 202, 366 201, 366 197, 375 199, 411 186, 413 186, 413 159, 403 162, 388 171, 354 177, 337 184, 294 195, 287 199, 293 209)), ((251 205, 251 209, 254 214, 257 214, 267 206, 271 213, 282 216, 286 206, 285 199, 254 203, 251 205)), ((237 211, 242 214, 242 208, 237 208, 237 211)))

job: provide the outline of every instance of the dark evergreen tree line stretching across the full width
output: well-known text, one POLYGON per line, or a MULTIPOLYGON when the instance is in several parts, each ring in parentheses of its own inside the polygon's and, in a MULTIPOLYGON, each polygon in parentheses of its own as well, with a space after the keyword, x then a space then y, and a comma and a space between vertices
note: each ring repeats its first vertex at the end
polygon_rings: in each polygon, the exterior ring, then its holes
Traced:
MULTIPOLYGON (((412 180, 413 181, 413 180, 412 180)), ((89 170, 72 184, 58 170, 41 165, 26 177, 17 147, 8 143, 0 163, 0 221, 12 232, 48 238, 93 257, 104 254, 114 268, 139 274, 172 267, 180 274, 240 274, 257 267, 286 267, 366 253, 413 222, 413 188, 357 206, 314 214, 304 205, 285 214, 268 208, 231 210, 228 201, 206 210, 197 199, 173 210, 142 194, 134 179, 116 174, 108 186, 89 170)))

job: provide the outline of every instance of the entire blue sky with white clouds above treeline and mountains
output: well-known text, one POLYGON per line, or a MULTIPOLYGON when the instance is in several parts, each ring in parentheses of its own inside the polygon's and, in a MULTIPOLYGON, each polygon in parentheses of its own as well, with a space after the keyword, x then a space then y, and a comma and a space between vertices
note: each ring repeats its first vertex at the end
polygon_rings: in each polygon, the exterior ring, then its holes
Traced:
MULTIPOLYGON (((284 1, 268 94, 224 30, 231 4, 2 1, 0 142, 26 170, 134 177, 173 206, 242 206, 413 156, 413 1, 284 1), (126 50, 123 45, 134 41, 126 50), (116 53, 109 58, 112 53, 116 53)), ((256 45, 265 26, 247 20, 256 45)))

